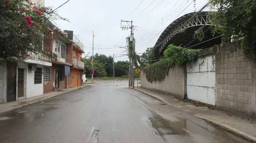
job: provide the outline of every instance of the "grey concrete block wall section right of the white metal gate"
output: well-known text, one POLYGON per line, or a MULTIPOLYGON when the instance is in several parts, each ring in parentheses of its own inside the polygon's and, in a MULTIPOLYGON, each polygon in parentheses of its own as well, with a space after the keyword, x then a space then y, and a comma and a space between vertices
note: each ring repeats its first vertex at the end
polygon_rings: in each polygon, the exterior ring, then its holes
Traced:
POLYGON ((217 108, 255 115, 255 62, 244 56, 240 44, 215 50, 217 108))

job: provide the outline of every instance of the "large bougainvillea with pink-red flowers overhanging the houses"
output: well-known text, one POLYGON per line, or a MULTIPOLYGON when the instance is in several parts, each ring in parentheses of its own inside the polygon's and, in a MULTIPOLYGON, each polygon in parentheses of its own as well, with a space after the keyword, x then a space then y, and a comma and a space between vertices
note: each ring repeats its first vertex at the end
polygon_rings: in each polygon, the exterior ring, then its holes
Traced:
POLYGON ((61 19, 51 7, 34 4, 30 0, 0 0, 0 58, 4 61, 23 61, 29 52, 47 49, 42 42, 51 33, 52 20, 61 19), (49 23, 49 24, 47 24, 49 23))

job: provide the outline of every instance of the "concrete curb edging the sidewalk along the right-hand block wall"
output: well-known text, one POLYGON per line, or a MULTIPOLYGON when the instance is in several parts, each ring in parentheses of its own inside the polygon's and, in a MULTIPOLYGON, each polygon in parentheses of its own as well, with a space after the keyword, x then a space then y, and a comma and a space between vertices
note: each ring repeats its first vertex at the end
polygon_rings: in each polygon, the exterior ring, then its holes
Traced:
MULTIPOLYGON (((130 88, 130 89, 135 89, 135 88, 132 88, 132 87, 128 87, 128 88, 130 88)), ((157 100, 160 100, 160 101, 164 102, 165 104, 172 105, 172 104, 170 104, 170 103, 164 101, 163 99, 157 98, 157 97, 155 97, 155 96, 153 96, 153 95, 150 95, 150 94, 148 94, 148 93, 146 93, 146 92, 144 92, 144 91, 141 91, 141 90, 139 90, 139 89, 135 89, 135 90, 138 90, 138 91, 140 91, 140 92, 142 92, 142 93, 144 93, 144 94, 146 94, 146 95, 148 95, 148 96, 150 96, 150 97, 153 97, 153 98, 155 98, 155 99, 157 99, 157 100)), ((180 108, 180 107, 175 106, 175 105, 172 105, 172 106, 177 107, 177 108, 180 108)), ((182 108, 180 108, 180 109, 182 109, 182 108)), ((182 110, 184 110, 184 109, 182 109, 182 110)), ((184 110, 184 111, 186 111, 186 110, 184 110)), ((247 140, 250 141, 250 142, 256 143, 256 137, 254 137, 254 136, 252 136, 252 135, 249 135, 249 134, 247 134, 247 133, 245 133, 245 132, 239 131, 239 130, 237 130, 237 129, 235 129, 235 128, 232 128, 232 127, 230 127, 230 126, 228 126, 228 125, 224 125, 224 124, 221 124, 221 123, 219 123, 219 122, 212 121, 212 120, 210 120, 210 119, 207 119, 207 118, 204 118, 204 117, 201 117, 201 116, 197 116, 197 115, 194 115, 194 116, 197 117, 197 118, 200 118, 200 119, 202 119, 202 120, 204 120, 204 121, 206 121, 206 122, 209 123, 209 124, 212 124, 212 125, 214 125, 214 126, 217 126, 217 127, 221 128, 221 129, 223 129, 223 130, 225 130, 225 131, 228 131, 228 132, 233 133, 233 134, 235 134, 235 135, 237 135, 237 136, 239 136, 239 137, 242 137, 242 138, 244 138, 244 139, 247 139, 247 140)))

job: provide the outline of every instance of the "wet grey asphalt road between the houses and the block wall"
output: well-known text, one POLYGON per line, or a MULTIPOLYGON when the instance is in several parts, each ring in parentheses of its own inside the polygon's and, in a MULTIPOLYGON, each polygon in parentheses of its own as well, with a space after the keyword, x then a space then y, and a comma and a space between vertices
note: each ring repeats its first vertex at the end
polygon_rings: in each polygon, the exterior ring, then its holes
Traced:
POLYGON ((0 115, 1 143, 245 143, 189 113, 127 89, 89 87, 0 115))

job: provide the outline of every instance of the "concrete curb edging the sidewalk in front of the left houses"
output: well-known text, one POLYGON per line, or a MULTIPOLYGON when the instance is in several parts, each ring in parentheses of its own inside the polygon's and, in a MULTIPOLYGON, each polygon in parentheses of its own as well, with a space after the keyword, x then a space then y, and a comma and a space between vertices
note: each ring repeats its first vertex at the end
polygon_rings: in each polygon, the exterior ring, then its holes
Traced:
POLYGON ((61 94, 64 94, 64 93, 68 93, 68 92, 71 92, 71 91, 75 91, 75 90, 78 90, 78 89, 82 89, 82 88, 87 87, 87 86, 88 85, 84 85, 83 87, 79 87, 79 88, 76 88, 76 89, 72 89, 72 90, 68 90, 68 91, 65 91, 65 92, 61 92, 59 94, 56 94, 56 95, 53 95, 53 96, 50 96, 50 97, 45 97, 45 98, 43 98, 41 100, 37 100, 37 101, 29 102, 27 104, 23 104, 23 105, 19 105, 19 106, 16 106, 16 107, 12 107, 12 108, 6 109, 4 111, 1 111, 0 114, 6 113, 6 112, 10 112, 10 111, 13 111, 13 110, 16 110, 16 109, 19 109, 19 108, 22 108, 22 107, 25 107, 25 106, 28 106, 28 105, 36 104, 36 103, 42 102, 44 100, 47 100, 49 98, 52 98, 52 97, 55 97, 55 96, 58 96, 58 95, 61 95, 61 94))

